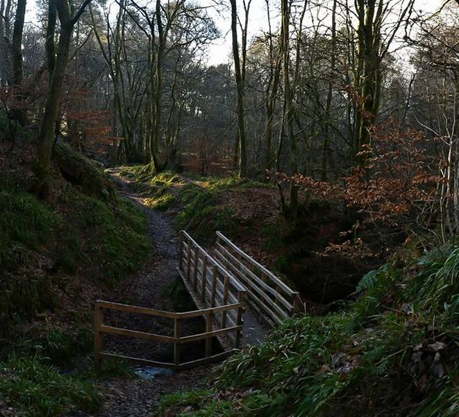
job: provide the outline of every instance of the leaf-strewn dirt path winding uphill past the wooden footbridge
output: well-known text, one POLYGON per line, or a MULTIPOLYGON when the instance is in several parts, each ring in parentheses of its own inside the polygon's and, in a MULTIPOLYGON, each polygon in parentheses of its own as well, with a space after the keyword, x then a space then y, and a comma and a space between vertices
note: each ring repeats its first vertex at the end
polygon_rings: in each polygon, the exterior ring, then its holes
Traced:
MULTIPOLYGON (((115 168, 108 171, 120 195, 132 199, 142 206, 148 215, 149 236, 153 250, 141 270, 124 279, 107 300, 145 306, 153 309, 174 311, 174 301, 165 296, 168 286, 178 277, 178 234, 172 227, 173 218, 167 213, 155 211, 144 204, 142 195, 135 192, 131 181, 119 177, 115 168)), ((108 320, 113 320, 108 314, 108 320)), ((122 325, 141 329, 145 326, 144 316, 133 316, 123 319, 122 325)), ((267 329, 262 327, 250 311, 244 313, 243 345, 259 343, 265 338, 267 329)), ((151 325, 151 323, 150 323, 151 325)), ((160 326, 159 326, 160 327, 160 326)), ((158 325, 156 324, 158 329, 158 325)), ((160 345, 149 347, 138 339, 118 338, 121 340, 108 341, 106 345, 126 354, 142 357, 144 354, 161 354, 160 345)), ((207 365, 172 373, 167 370, 153 379, 118 377, 101 380, 101 392, 104 399, 103 410, 98 417, 135 417, 148 416, 157 410, 157 402, 161 395, 175 391, 194 389, 203 382, 210 370, 215 366, 207 365)), ((72 416, 89 416, 88 414, 72 414, 72 416)))

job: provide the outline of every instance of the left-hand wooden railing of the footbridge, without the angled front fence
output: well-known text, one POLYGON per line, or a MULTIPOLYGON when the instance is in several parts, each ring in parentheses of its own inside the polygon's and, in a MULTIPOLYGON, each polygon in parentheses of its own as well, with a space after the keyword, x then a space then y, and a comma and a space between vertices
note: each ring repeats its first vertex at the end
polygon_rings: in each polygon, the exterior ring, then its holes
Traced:
MULTIPOLYGON (((179 250, 178 273, 198 306, 244 303, 247 289, 185 231, 180 232, 179 250)), ((241 315, 242 309, 225 309, 215 314, 215 320, 224 329, 226 325, 239 325, 241 315)), ((228 337, 239 346, 240 332, 228 337)))

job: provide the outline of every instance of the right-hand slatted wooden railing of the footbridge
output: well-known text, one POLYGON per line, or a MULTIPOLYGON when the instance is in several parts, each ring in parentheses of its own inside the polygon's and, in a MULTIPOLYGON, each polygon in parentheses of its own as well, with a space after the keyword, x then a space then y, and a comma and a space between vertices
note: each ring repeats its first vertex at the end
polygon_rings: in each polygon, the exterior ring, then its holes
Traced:
POLYGON ((260 311, 271 325, 280 323, 295 311, 304 310, 297 291, 293 291, 219 231, 215 258, 247 287, 247 302, 260 311))

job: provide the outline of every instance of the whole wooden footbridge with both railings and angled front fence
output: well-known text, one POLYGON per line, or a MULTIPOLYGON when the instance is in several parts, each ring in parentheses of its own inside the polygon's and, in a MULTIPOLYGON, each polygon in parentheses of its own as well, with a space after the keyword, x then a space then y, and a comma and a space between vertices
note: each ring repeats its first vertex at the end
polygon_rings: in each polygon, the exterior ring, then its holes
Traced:
POLYGON ((212 254, 206 252, 185 231, 180 232, 178 274, 190 293, 197 309, 177 313, 160 311, 142 306, 97 301, 94 318, 94 363, 100 369, 102 359, 121 358, 150 366, 183 370, 226 359, 241 344, 244 335, 244 311, 254 311, 267 325, 278 325, 284 318, 304 311, 299 293, 260 265, 239 247, 217 232, 217 242, 212 254), (139 332, 107 325, 103 311, 123 311, 170 321, 171 334, 139 332), (205 331, 183 336, 185 320, 201 317, 205 331), (103 350, 103 335, 113 334, 173 345, 173 361, 152 361, 103 350), (212 352, 212 339, 222 346, 220 352, 212 352), (200 359, 182 360, 182 350, 188 343, 203 341, 200 359))

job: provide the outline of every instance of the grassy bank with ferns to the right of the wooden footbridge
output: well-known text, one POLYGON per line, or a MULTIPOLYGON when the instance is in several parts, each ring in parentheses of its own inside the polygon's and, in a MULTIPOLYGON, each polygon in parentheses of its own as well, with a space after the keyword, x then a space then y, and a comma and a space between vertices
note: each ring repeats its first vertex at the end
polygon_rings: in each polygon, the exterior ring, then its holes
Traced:
POLYGON ((166 397, 163 410, 456 417, 459 247, 397 263, 367 274, 358 286, 365 293, 347 311, 288 320, 267 342, 226 361, 214 390, 166 397))

